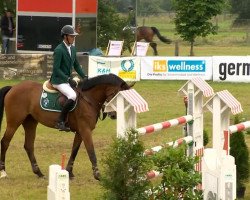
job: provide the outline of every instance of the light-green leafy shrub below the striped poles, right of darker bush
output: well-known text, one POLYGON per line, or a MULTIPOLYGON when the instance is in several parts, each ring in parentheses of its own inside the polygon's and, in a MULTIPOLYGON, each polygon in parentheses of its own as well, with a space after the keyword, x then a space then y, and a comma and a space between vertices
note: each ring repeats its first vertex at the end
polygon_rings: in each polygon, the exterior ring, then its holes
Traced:
POLYGON ((202 192, 195 189, 201 183, 201 175, 194 170, 198 157, 185 155, 186 146, 167 148, 153 157, 157 171, 163 173, 161 184, 155 188, 154 199, 203 199, 202 192))

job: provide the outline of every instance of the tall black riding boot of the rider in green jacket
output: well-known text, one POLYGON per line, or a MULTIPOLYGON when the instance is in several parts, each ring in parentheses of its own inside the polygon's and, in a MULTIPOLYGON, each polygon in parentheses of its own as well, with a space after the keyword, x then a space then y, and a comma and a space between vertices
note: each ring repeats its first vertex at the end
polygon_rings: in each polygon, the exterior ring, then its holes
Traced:
POLYGON ((64 104, 62 108, 62 112, 59 116, 58 123, 56 125, 56 128, 59 129, 59 131, 67 131, 67 132, 70 131, 70 128, 65 125, 65 121, 66 121, 68 112, 73 107, 73 105, 74 105, 74 101, 72 99, 68 99, 66 103, 64 104))

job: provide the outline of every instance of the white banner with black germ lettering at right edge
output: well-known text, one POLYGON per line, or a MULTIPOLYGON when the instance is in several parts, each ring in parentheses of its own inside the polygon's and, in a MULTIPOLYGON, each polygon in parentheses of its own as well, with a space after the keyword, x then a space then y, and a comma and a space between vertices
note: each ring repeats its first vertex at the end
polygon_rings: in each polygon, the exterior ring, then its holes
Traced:
POLYGON ((250 56, 213 56, 213 81, 250 82, 250 56))

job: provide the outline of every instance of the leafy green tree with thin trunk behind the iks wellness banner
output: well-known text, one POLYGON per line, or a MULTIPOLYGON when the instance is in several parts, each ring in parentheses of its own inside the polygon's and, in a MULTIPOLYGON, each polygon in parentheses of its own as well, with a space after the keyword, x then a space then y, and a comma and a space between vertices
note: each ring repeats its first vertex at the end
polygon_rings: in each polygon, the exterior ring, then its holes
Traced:
POLYGON ((218 27, 210 20, 221 14, 224 5, 225 0, 173 0, 175 29, 184 41, 190 43, 190 56, 194 55, 197 37, 217 33, 218 27))

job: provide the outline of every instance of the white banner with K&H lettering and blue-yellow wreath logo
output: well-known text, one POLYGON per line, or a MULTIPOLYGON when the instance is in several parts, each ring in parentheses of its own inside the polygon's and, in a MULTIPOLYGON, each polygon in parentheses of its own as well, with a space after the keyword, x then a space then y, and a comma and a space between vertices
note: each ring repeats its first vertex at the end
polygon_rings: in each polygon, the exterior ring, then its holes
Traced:
POLYGON ((140 58, 89 56, 89 77, 113 73, 125 81, 140 80, 140 58))

